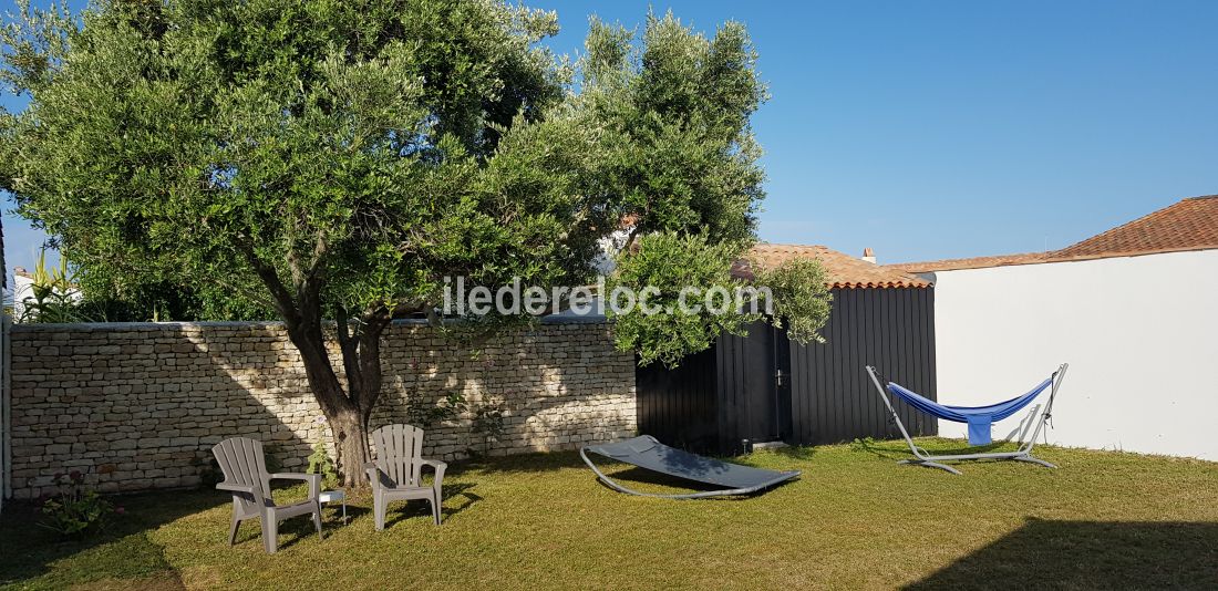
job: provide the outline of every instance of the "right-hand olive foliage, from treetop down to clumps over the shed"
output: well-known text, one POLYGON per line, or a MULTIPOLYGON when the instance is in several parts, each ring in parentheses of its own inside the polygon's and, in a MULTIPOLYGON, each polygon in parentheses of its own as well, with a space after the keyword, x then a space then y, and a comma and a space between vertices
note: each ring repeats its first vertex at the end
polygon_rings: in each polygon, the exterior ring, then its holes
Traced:
MULTIPOLYGON (((580 100, 609 132, 598 171, 619 195, 620 211, 636 221, 610 290, 654 285, 660 290, 654 301, 665 308, 683 286, 734 294, 739 284, 730 268, 754 241, 765 179, 749 117, 766 90, 744 27, 728 22, 708 39, 671 12, 650 15, 636 43, 632 32, 593 19, 586 49, 580 100)), ((816 340, 828 317, 818 268, 801 262, 755 281, 776 283, 782 305, 772 322, 786 323, 799 342, 816 340)), ((760 318, 738 308, 726 314, 636 308, 615 316, 614 331, 619 349, 637 351, 639 363, 671 367, 760 318)))

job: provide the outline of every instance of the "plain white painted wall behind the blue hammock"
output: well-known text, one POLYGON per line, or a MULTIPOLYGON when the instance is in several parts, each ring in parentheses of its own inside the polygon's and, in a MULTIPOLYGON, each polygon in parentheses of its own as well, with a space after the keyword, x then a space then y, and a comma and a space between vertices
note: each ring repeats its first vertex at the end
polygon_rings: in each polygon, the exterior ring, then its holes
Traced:
MULTIPOLYGON (((1006 400, 1068 362, 1050 442, 1218 461, 1218 250, 933 280, 942 402, 1006 400)), ((939 422, 943 436, 965 430, 939 422)))

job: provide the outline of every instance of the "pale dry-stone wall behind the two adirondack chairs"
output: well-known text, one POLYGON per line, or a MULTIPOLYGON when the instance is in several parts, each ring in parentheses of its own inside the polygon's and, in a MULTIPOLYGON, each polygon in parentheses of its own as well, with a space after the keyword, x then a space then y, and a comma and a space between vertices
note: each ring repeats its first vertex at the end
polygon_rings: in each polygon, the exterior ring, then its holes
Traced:
MULTIPOLYGON (((407 423, 460 392, 473 412, 428 428, 425 455, 574 448, 633 435, 635 369, 605 323, 543 323, 471 350, 417 323, 386 330, 371 428, 407 423)), ((336 350, 331 353, 337 358, 336 350)), ((341 367, 336 364, 336 367, 341 367)), ((330 433, 278 323, 32 324, 12 329, 12 491, 35 497, 56 472, 102 491, 192 486, 225 437, 261 439, 302 470, 330 433)), ((333 446, 331 446, 333 448, 333 446)))

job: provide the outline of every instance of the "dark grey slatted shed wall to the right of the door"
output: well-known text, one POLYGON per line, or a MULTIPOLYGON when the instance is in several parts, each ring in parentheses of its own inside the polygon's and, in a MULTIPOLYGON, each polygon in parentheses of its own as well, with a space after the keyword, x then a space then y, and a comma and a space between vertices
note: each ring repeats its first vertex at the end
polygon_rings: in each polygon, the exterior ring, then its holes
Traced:
MULTIPOLYGON (((934 400, 933 310, 929 289, 833 290, 826 342, 790 345, 793 442, 899 437, 864 366, 934 400)), ((911 435, 937 433, 922 413, 896 409, 911 435)))

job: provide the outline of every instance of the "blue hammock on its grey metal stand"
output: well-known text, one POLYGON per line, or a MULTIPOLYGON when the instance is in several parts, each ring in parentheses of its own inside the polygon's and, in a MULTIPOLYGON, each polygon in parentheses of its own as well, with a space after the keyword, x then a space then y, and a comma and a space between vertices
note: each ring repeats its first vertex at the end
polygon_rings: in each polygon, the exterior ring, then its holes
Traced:
MULTIPOLYGON (((907 390, 899 384, 893 381, 888 383, 885 389, 879 379, 879 372, 875 367, 867 366, 867 375, 871 377, 871 383, 876 385, 876 391, 879 392, 879 397, 884 401, 884 406, 888 407, 888 412, 892 413, 893 420, 896 422, 896 428, 900 429, 901 436, 905 437, 905 442, 910 446, 910 452, 914 453, 915 459, 903 459, 899 464, 914 464, 914 465, 926 465, 928 468, 939 468, 942 470, 950 472, 952 474, 960 474, 960 470, 944 464, 942 462, 951 462, 959 459, 1013 459, 1016 462, 1029 462, 1033 464, 1044 465, 1046 468, 1057 468, 1056 465, 1045 462, 1044 459, 1032 456, 1032 448, 1037 445, 1037 437, 1040 436, 1040 430, 1046 423, 1049 423, 1052 417, 1054 398, 1057 397, 1057 389, 1061 386, 1062 379, 1066 378, 1066 369, 1069 367, 1068 363, 1062 363, 1052 375, 1045 381, 1040 383, 1037 388, 1024 394, 1023 396, 1017 396, 1015 398, 1007 400, 1005 402, 999 402, 996 405, 980 406, 980 407, 967 407, 967 406, 949 406, 940 405, 933 400, 920 396, 917 392, 907 390), (1050 388, 1051 386, 1051 388, 1050 388), (905 401, 914 408, 931 414, 945 420, 951 420, 955 423, 967 423, 968 424, 968 441, 972 445, 989 444, 989 429, 994 422, 1005 419, 1015 413, 1017 413, 1023 407, 1032 403, 1032 401, 1039 396, 1045 390, 1049 390, 1049 401, 1045 402, 1043 409, 1039 414, 1039 420, 1035 420, 1035 430, 1032 433, 1032 437, 1027 440, 1024 436, 1028 434, 1028 429, 1032 428, 1032 423, 1028 423, 1022 433, 1019 433, 1019 448, 1010 452, 979 452, 979 453, 956 453, 946 456, 933 456, 926 450, 918 447, 914 444, 914 437, 910 436, 909 430, 905 429, 905 424, 901 423, 900 416, 896 414, 896 409, 893 407, 893 402, 889 396, 896 396, 905 401)), ((1039 408, 1034 408, 1029 417, 1037 414, 1039 408)))

